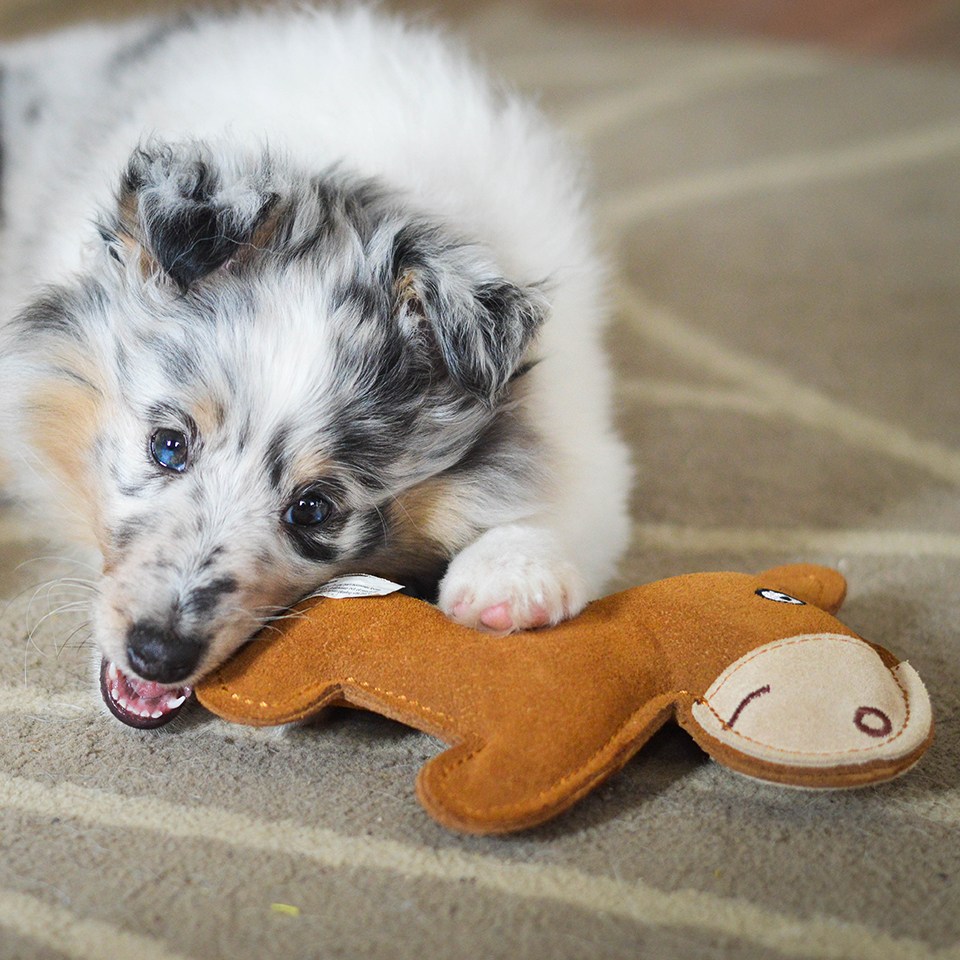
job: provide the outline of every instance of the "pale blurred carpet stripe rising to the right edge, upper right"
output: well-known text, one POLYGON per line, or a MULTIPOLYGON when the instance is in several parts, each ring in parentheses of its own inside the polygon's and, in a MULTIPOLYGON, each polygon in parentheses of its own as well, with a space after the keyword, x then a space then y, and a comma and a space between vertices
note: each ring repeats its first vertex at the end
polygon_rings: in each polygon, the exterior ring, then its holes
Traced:
POLYGON ((928 127, 855 146, 775 157, 624 191, 603 205, 601 221, 612 230, 623 231, 640 221, 697 204, 880 173, 958 151, 960 125, 928 127))

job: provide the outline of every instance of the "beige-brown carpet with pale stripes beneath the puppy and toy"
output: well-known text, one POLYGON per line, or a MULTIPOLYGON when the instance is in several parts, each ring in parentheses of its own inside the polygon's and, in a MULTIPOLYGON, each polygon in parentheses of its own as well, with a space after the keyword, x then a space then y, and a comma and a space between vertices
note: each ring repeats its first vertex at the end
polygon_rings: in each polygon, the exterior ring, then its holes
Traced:
POLYGON ((667 731, 552 825, 463 839, 413 795, 436 744, 386 721, 101 715, 83 594, 45 584, 86 574, 5 519, 0 958, 958 960, 960 74, 463 17, 596 171, 641 466, 620 585, 837 565, 938 740, 820 795, 667 731))

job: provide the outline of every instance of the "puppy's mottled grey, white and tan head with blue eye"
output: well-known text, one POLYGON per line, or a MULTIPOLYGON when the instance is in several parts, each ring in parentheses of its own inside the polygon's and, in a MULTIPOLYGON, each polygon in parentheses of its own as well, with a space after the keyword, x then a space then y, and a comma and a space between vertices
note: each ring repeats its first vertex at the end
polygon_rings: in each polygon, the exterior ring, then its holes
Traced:
POLYGON ((104 558, 95 637, 188 683, 331 575, 435 578, 521 509, 545 304, 397 195, 149 145, 4 363, 46 509, 104 558), (526 431, 526 432, 525 432, 526 431))

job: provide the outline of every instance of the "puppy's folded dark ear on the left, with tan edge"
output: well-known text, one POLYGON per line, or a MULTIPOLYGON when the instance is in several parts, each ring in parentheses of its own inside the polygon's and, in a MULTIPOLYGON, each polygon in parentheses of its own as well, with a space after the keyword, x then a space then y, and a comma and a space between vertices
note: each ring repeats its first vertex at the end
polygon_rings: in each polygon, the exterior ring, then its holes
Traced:
POLYGON ((117 259, 186 292, 257 246, 278 199, 266 182, 264 164, 225 171, 199 145, 151 143, 130 157, 100 233, 117 259))

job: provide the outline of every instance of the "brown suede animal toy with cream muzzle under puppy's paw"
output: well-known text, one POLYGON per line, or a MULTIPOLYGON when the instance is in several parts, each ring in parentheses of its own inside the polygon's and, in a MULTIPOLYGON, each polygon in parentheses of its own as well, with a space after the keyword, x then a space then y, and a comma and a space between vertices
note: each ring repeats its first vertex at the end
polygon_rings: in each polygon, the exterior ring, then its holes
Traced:
POLYGON ((398 594, 321 599, 197 688, 228 720, 272 725, 352 704, 451 749, 420 771, 441 823, 505 833, 560 813, 675 717, 715 760, 763 780, 888 780, 933 737, 920 678, 832 615, 834 570, 701 573, 491 636, 398 594))

